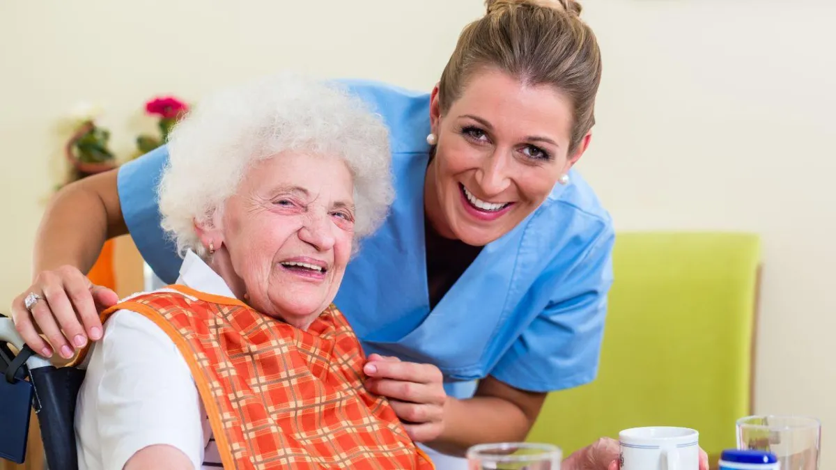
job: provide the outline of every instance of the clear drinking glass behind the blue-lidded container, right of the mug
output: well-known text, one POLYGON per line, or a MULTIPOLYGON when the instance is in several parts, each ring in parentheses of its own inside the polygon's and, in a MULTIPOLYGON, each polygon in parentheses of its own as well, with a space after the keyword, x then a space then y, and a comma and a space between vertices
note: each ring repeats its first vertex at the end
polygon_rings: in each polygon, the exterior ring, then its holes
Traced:
POLYGON ((737 420, 737 448, 768 451, 781 470, 818 470, 822 424, 806 416, 747 416, 737 420))

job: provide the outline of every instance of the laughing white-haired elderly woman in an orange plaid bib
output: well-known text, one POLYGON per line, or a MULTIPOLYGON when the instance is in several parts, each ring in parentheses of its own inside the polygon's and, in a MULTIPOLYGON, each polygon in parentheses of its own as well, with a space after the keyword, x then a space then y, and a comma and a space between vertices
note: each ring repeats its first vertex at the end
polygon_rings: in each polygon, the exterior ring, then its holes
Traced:
POLYGON ((383 123, 282 75, 216 95, 171 137, 170 288, 104 314, 79 394, 79 467, 431 468, 331 305, 392 197, 383 123), (213 438, 212 438, 213 436, 213 438))

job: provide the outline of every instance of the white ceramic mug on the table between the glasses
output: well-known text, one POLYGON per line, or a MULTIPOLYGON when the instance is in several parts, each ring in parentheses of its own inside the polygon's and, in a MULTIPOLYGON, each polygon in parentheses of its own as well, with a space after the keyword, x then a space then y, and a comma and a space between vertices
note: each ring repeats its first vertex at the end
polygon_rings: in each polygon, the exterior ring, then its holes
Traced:
POLYGON ((621 470, 699 470, 700 433, 686 427, 619 432, 621 470))

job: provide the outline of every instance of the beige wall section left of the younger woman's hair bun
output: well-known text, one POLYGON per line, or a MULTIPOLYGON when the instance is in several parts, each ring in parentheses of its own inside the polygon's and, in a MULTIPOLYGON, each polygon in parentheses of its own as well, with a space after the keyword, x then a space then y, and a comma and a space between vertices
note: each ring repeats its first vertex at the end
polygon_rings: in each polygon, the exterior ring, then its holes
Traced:
POLYGON ((449 0, 0 2, 0 312, 28 286, 33 233, 63 175, 60 121, 79 100, 104 105, 112 148, 129 156, 155 130, 142 108, 157 94, 198 100, 279 69, 431 89, 481 12, 449 0))

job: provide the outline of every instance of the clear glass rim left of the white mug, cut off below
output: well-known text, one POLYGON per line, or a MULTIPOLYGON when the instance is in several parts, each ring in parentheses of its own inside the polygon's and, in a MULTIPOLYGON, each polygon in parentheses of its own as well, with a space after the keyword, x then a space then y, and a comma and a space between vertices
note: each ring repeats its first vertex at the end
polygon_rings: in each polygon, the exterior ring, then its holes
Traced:
POLYGON ((503 442, 467 450, 467 470, 560 470, 563 452, 551 444, 503 442))

